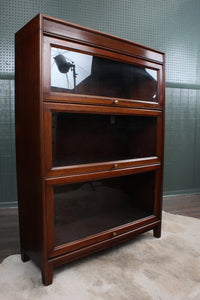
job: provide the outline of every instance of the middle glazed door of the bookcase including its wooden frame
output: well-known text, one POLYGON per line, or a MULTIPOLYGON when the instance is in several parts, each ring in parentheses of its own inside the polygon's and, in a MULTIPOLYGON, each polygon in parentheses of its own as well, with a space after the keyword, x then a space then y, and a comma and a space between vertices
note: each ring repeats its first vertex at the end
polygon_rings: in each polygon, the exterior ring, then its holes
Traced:
POLYGON ((45 103, 46 175, 160 163, 162 126, 159 111, 45 103))

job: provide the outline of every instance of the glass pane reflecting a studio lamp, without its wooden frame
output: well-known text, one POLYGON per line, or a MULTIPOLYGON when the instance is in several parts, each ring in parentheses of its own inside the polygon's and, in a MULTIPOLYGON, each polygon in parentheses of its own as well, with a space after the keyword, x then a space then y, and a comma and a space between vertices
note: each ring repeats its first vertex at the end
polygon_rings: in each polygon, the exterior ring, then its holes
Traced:
POLYGON ((155 102, 157 71, 52 47, 51 90, 155 102))

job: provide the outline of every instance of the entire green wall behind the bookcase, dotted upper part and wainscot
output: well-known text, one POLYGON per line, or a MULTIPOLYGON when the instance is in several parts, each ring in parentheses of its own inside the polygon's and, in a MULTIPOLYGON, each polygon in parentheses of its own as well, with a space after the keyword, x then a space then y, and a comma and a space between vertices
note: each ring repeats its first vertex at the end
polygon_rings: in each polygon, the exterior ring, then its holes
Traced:
POLYGON ((39 12, 165 51, 164 192, 200 192, 200 1, 1 0, 0 206, 17 201, 14 33, 39 12))

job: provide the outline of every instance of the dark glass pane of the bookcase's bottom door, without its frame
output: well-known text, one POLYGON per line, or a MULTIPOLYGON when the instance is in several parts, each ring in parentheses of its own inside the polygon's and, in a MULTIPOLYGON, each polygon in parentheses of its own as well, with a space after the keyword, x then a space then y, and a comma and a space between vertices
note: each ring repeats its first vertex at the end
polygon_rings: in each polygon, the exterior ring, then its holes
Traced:
POLYGON ((153 214, 154 191, 155 172, 55 186, 55 245, 153 214))

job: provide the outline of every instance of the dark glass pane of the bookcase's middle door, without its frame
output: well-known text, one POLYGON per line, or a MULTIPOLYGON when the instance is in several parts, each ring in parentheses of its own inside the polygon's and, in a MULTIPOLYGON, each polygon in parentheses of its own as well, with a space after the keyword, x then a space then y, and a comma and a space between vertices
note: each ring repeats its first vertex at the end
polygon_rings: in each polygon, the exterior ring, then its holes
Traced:
POLYGON ((156 117, 53 112, 53 167, 156 156, 156 121, 156 117))

